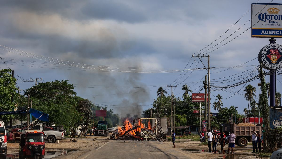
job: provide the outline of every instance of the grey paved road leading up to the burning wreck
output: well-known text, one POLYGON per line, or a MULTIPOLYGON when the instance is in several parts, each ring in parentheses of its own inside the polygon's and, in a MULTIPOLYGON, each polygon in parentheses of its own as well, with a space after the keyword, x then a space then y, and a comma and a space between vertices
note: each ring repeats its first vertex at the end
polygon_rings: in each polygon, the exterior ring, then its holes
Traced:
POLYGON ((111 140, 95 150, 82 155, 92 158, 190 158, 187 153, 158 141, 116 141, 111 140))

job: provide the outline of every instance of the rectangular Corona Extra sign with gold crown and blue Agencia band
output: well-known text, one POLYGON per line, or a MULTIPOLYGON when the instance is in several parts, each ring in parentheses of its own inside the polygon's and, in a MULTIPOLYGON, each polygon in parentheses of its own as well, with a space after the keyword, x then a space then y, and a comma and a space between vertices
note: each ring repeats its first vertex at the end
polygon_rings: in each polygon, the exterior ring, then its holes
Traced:
POLYGON ((252 3, 251 37, 282 38, 282 5, 279 3, 252 3))

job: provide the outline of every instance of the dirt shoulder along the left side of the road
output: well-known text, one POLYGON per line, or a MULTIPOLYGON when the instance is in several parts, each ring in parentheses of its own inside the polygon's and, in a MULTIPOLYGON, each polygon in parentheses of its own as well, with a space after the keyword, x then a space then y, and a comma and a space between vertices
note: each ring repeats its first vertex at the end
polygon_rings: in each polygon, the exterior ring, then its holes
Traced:
MULTIPOLYGON (((109 137, 109 136, 108 136, 109 137)), ((77 142, 70 142, 70 138, 65 140, 60 140, 59 143, 45 143, 46 151, 56 151, 56 150, 75 150, 69 152, 65 155, 56 156, 54 158, 69 159, 77 158, 80 155, 93 150, 100 145, 108 142, 108 137, 104 136, 87 136, 83 138, 75 138, 77 142)), ((74 139, 74 138, 73 138, 74 139)), ((17 154, 19 152, 19 143, 7 143, 7 154, 17 154)))

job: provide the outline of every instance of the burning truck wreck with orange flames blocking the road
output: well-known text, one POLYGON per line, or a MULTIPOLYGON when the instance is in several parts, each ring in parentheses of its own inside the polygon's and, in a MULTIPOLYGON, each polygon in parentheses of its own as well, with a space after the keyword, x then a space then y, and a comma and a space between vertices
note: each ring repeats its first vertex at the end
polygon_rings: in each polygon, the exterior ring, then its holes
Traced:
POLYGON ((126 119, 110 137, 112 140, 166 140, 166 118, 139 118, 133 121, 126 119))

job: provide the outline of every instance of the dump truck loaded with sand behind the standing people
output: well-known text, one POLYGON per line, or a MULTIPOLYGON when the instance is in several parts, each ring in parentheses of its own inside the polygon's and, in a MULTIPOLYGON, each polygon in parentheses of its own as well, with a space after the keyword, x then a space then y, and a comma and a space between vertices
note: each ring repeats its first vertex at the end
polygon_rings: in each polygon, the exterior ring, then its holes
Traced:
POLYGON ((262 132, 261 126, 237 126, 234 123, 222 124, 222 129, 226 136, 234 131, 234 134, 236 135, 235 143, 238 146, 246 146, 250 141, 254 130, 255 132, 262 132))

